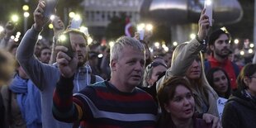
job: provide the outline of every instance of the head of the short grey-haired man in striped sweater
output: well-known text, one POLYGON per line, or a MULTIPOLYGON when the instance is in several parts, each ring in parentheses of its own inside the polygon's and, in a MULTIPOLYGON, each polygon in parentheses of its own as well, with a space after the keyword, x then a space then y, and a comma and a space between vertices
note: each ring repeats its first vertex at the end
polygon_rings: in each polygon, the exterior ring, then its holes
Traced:
POLYGON ((132 37, 121 36, 111 47, 111 82, 131 91, 142 80, 145 66, 145 47, 132 37))

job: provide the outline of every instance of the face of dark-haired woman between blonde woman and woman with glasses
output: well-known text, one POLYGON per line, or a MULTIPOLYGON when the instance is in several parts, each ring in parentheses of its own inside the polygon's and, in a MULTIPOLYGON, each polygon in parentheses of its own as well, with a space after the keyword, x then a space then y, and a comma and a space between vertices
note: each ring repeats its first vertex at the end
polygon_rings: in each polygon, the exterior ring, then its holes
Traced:
POLYGON ((214 90, 220 94, 224 94, 228 91, 228 79, 223 71, 218 70, 213 73, 213 85, 214 90))

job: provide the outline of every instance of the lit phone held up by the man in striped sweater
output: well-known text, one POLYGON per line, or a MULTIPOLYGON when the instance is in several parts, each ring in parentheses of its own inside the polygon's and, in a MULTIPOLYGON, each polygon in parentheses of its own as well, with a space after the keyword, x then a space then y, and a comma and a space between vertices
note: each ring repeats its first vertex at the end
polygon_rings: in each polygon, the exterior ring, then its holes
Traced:
POLYGON ((65 53, 69 55, 71 59, 73 59, 74 50, 72 49, 69 33, 64 33, 60 35, 57 45, 63 45, 64 47, 68 48, 68 51, 65 53))

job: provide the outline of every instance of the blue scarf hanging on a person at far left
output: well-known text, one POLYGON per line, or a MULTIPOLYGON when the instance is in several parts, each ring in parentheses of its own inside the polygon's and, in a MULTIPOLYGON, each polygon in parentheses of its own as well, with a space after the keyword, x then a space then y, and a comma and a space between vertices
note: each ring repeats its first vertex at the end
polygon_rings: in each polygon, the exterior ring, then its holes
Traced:
POLYGON ((9 87, 17 94, 17 104, 27 128, 41 127, 40 91, 30 79, 22 79, 18 74, 9 87))

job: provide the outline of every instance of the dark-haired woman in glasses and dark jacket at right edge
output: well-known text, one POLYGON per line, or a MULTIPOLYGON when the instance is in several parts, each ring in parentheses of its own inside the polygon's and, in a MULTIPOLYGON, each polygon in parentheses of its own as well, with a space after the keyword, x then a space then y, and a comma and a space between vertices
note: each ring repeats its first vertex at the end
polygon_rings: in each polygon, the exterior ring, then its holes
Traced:
POLYGON ((222 116, 223 128, 256 127, 256 64, 246 64, 237 78, 222 116))

